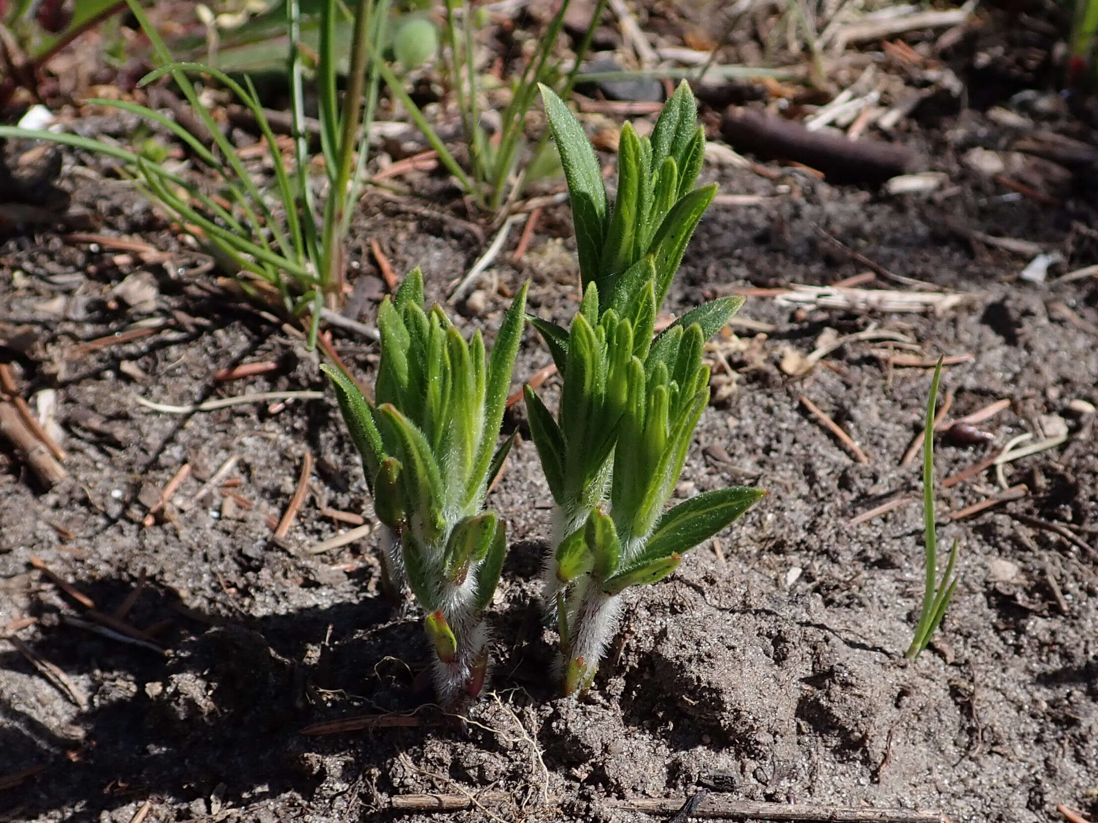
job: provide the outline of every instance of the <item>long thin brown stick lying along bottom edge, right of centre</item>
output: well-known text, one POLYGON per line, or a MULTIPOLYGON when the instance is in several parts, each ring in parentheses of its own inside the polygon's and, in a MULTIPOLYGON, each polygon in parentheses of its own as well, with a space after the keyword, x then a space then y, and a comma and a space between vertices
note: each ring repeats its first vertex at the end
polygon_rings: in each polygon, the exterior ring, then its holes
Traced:
MULTIPOLYGON (((673 814, 679 811, 685 798, 640 798, 637 800, 610 800, 606 809, 646 814, 673 814)), ((811 821, 817 823, 943 823, 938 812, 917 812, 911 809, 844 809, 834 805, 807 805, 805 803, 761 803, 753 800, 736 800, 727 794, 706 794, 692 816, 709 820, 741 818, 743 820, 811 821)))

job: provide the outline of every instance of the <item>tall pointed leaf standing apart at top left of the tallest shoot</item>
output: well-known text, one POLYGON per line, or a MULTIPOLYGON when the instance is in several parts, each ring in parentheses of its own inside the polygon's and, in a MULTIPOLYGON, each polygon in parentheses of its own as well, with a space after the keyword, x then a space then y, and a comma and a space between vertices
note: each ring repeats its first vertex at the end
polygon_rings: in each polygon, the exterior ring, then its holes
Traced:
POLYGON ((606 238, 607 202, 603 170, 583 127, 564 101, 549 87, 539 83, 539 88, 568 181, 580 272, 586 284, 598 277, 598 261, 606 238))

